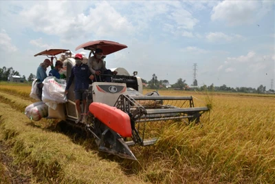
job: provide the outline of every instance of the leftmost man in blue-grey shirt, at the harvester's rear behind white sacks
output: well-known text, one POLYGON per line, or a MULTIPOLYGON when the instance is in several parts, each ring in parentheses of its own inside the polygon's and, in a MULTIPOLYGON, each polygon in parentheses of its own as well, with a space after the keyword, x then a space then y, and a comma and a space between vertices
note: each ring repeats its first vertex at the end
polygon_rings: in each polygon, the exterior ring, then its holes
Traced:
MULTIPOLYGON (((51 57, 51 61, 54 60, 54 57, 51 57)), ((36 79, 37 79, 37 88, 39 88, 39 98, 42 100, 42 88, 43 81, 47 78, 47 68, 51 65, 50 59, 45 59, 43 63, 40 63, 39 67, 36 70, 36 79)))

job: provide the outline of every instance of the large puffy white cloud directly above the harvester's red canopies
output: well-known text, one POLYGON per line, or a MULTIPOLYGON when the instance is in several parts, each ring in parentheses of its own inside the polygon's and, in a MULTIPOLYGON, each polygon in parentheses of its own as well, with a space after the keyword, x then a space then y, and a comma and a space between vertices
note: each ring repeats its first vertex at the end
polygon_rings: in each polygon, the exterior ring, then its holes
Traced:
POLYGON ((61 39, 91 37, 90 35, 115 37, 135 31, 133 25, 108 2, 90 2, 91 5, 92 8, 85 10, 85 7, 72 6, 67 1, 47 1, 25 9, 20 14, 28 27, 37 32, 58 35, 61 39))

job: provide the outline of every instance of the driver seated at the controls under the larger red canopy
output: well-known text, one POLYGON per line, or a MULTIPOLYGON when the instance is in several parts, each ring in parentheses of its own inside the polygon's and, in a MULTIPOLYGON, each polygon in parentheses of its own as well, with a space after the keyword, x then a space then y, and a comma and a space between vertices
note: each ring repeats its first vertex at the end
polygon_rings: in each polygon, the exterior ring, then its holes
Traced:
MULTIPOLYGON (((107 70, 105 63, 103 62, 103 51, 101 48, 97 48, 94 57, 90 57, 88 61, 89 70, 94 76, 96 76, 96 81, 100 81, 100 74, 117 74, 118 72, 111 72, 107 70)), ((101 76, 101 79, 105 79, 107 82, 111 82, 111 76, 101 76)))

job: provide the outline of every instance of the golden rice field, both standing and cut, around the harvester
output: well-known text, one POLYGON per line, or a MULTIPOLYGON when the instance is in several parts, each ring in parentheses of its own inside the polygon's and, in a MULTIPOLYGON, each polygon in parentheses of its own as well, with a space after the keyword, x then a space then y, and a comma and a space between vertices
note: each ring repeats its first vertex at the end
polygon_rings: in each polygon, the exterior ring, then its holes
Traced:
POLYGON ((30 121, 21 113, 30 88, 0 83, 0 135, 14 164, 32 165, 34 183, 275 183, 275 95, 159 90, 212 110, 199 125, 162 125, 159 141, 131 147, 138 161, 129 161, 49 131, 54 121, 30 121))

